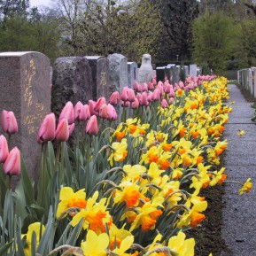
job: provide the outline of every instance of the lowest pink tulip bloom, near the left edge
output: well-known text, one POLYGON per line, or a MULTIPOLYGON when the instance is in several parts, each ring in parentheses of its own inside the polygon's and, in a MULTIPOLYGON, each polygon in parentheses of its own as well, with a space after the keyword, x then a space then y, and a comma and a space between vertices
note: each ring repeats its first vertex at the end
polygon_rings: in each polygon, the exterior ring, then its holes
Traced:
POLYGON ((19 175, 20 174, 20 153, 17 147, 10 151, 7 159, 4 162, 5 175, 19 175))

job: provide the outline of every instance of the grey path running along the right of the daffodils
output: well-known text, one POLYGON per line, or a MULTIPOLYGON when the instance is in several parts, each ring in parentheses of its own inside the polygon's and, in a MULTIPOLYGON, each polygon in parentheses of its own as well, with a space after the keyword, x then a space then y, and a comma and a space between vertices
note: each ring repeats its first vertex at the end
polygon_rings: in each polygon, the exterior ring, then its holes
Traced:
MULTIPOLYGON (((236 85, 228 85, 229 102, 233 112, 229 114, 224 136, 228 139, 225 166, 228 180, 245 182, 252 178, 252 191, 238 195, 240 185, 226 183, 223 202, 222 237, 229 247, 221 256, 256 255, 256 125, 252 122, 253 109, 236 85), (237 132, 244 130, 244 136, 237 132)), ((214 255, 213 255, 214 256, 214 255)))

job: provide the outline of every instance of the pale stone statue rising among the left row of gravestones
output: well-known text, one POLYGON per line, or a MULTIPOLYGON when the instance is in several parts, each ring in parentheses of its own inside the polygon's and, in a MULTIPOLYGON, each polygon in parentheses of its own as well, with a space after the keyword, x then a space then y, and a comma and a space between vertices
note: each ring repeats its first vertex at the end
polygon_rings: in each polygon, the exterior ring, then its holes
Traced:
POLYGON ((140 84, 144 84, 144 82, 148 83, 151 81, 152 76, 154 76, 153 68, 151 65, 151 55, 144 54, 142 59, 142 65, 138 71, 138 79, 137 81, 140 84))

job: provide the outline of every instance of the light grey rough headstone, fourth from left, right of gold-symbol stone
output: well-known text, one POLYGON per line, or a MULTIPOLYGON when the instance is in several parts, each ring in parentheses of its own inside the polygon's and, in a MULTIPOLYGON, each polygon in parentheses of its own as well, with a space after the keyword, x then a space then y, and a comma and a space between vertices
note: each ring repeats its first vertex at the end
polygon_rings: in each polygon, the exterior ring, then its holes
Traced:
POLYGON ((109 59, 109 88, 110 94, 115 90, 121 90, 128 86, 128 64, 127 58, 119 53, 108 56, 109 59))

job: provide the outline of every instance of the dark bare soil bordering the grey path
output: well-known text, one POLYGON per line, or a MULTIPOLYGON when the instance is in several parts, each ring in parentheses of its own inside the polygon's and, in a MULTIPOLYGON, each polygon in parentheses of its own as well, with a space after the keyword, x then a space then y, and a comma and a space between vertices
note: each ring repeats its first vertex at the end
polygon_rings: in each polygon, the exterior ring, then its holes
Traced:
MULTIPOLYGON (((256 98, 254 98, 247 89, 237 85, 237 88, 241 90, 244 98, 247 102, 255 104, 256 98)), ((256 115, 256 109, 255 109, 256 115)), ((221 156, 221 165, 225 166, 225 153, 221 156)), ((225 241, 221 237, 222 227, 222 208, 224 206, 222 202, 222 196, 225 192, 225 183, 221 186, 216 185, 214 187, 208 187, 206 190, 202 190, 200 196, 205 197, 208 202, 206 209, 206 220, 202 222, 197 229, 191 229, 187 233, 187 237, 194 237, 196 239, 195 255, 208 256, 211 252, 213 256, 221 256, 221 252, 229 252, 229 248, 225 244, 225 241)))

